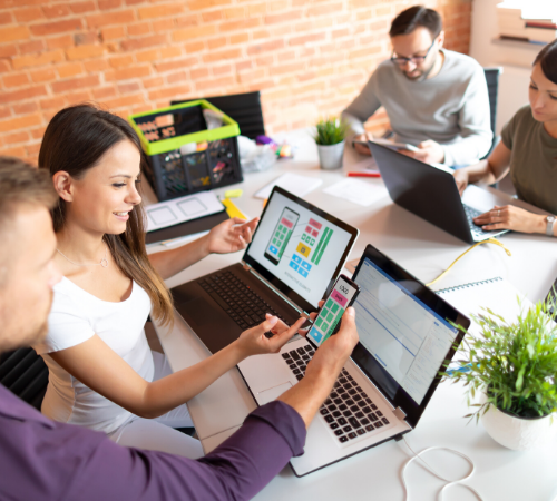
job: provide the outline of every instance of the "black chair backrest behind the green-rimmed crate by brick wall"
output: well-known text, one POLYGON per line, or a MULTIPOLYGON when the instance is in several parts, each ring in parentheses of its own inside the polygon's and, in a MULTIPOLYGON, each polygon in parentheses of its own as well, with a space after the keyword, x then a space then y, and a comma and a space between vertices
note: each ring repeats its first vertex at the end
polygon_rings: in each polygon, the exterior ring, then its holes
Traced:
POLYGON ((258 90, 245 94, 232 94, 228 96, 213 96, 204 98, 192 98, 179 101, 172 101, 172 105, 192 101, 194 99, 206 99, 225 112, 240 126, 242 136, 255 139, 257 136, 265 135, 263 125, 263 112, 261 110, 261 94, 258 90))

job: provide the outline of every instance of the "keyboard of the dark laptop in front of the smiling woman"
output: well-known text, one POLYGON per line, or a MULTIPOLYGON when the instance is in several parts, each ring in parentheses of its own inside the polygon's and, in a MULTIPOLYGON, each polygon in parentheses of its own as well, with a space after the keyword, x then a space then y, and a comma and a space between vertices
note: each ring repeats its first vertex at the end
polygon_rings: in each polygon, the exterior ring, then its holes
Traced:
POLYGON ((261 324, 265 313, 284 322, 271 305, 232 272, 217 273, 198 282, 242 330, 261 324))

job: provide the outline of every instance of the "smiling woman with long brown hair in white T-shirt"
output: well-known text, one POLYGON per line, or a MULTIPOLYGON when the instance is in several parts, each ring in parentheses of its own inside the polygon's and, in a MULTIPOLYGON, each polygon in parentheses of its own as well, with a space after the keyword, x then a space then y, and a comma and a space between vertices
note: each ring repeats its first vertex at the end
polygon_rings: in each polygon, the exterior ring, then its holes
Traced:
POLYGON ((184 247, 147 256, 140 158, 133 128, 91 105, 59 111, 45 132, 39 167, 49 169, 60 197, 52 218, 63 278, 49 334, 35 346, 49 367, 42 412, 124 445, 197 458, 199 442, 173 430, 192 425, 185 403, 246 356, 278 351, 303 320, 287 328, 267 315, 221 352, 172 374, 144 331, 149 312, 173 322, 164 278, 211 253, 245 248, 257 219, 229 219, 184 247), (267 338, 267 331, 275 335, 267 338))

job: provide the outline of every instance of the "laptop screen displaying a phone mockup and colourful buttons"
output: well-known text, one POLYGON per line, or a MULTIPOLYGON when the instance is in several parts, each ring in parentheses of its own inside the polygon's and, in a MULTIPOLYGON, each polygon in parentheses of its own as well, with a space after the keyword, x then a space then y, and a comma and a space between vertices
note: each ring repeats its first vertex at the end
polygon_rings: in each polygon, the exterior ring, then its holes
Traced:
POLYGON ((316 308, 356 235, 355 228, 275 188, 244 259, 281 291, 316 308))

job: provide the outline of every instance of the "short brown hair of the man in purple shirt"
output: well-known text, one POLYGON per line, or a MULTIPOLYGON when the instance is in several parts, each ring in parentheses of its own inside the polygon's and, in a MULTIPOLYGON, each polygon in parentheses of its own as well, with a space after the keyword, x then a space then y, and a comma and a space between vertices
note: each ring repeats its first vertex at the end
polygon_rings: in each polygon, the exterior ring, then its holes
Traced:
POLYGON ((47 173, 16 158, 0 156, 0 229, 20 204, 55 207, 58 195, 47 173))

